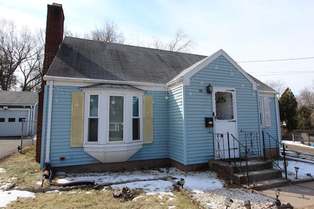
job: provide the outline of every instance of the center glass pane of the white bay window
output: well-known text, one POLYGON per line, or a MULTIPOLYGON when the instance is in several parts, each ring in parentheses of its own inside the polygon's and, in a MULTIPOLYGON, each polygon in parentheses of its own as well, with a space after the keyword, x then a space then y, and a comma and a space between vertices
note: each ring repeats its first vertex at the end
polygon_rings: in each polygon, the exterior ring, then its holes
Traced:
POLYGON ((109 99, 109 141, 123 141, 124 97, 110 96, 109 99), (114 124, 115 130, 111 129, 114 124))

